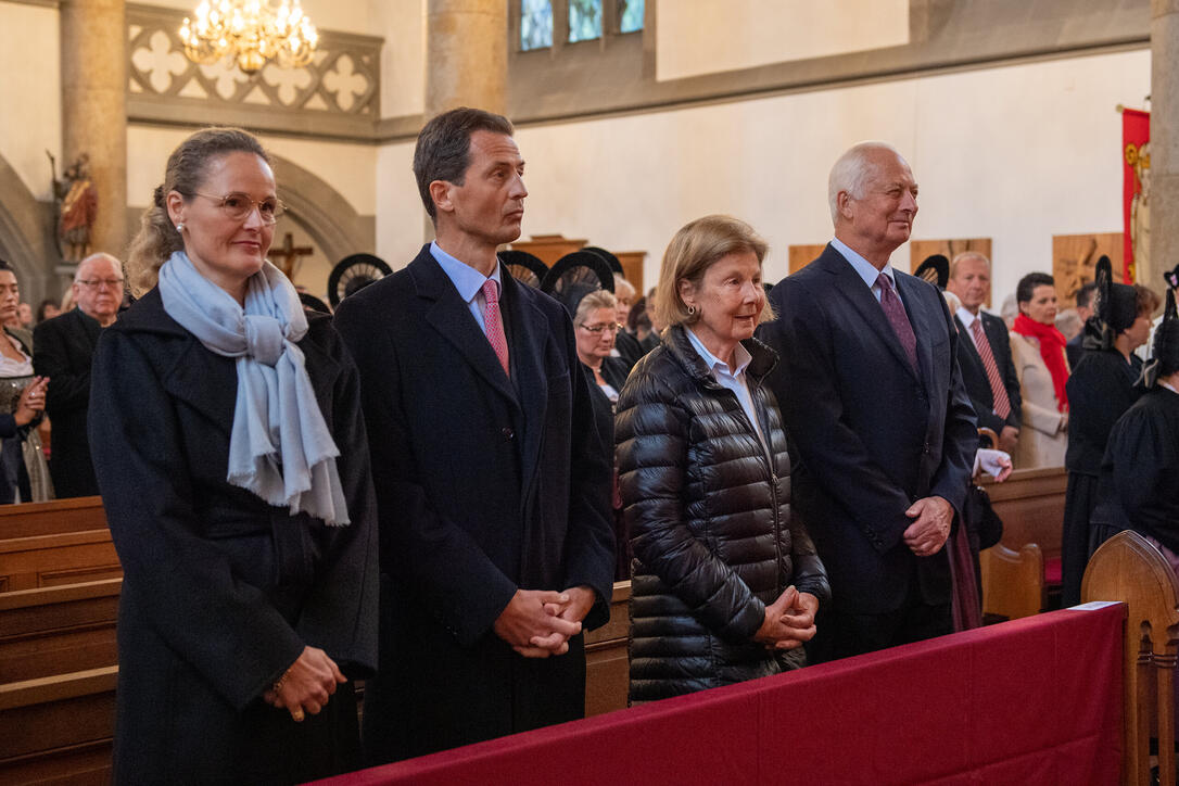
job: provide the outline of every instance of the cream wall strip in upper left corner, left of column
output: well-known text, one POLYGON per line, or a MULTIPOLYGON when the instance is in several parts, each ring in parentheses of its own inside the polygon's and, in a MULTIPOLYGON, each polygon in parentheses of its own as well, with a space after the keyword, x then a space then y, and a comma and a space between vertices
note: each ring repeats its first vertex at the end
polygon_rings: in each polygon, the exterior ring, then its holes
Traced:
POLYGON ((58 9, 0 2, 0 29, 9 33, 0 46, 0 156, 37 199, 48 202, 53 190, 45 151, 58 159, 58 177, 67 165, 61 161, 58 9))

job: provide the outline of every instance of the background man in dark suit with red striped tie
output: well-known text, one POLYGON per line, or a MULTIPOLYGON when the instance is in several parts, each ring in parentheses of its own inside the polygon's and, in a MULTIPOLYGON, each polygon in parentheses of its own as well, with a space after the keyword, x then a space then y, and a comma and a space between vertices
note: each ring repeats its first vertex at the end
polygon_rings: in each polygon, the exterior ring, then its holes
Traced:
POLYGON ((1020 437, 1020 378, 1012 363, 1012 343, 1007 325, 982 310, 990 291, 990 260, 977 251, 963 251, 950 263, 946 289, 957 295, 962 305, 955 310, 959 332, 970 341, 962 342, 959 369, 962 383, 974 405, 979 425, 999 435, 1003 453, 1014 453, 1020 437))

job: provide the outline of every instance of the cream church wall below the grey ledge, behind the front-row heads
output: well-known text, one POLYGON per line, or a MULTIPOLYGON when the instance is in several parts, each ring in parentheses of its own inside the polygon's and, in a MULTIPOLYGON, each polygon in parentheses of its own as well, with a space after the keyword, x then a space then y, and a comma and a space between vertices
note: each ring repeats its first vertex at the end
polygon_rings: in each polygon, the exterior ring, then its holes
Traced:
MULTIPOLYGON (((1139 49, 525 125, 518 132, 528 161, 523 233, 647 251, 650 286, 679 226, 727 212, 770 240, 766 278, 776 280, 786 272, 789 245, 830 238, 826 177, 835 158, 855 141, 884 139, 921 185, 914 238, 994 239, 997 309, 1022 275, 1050 272, 1053 235, 1121 230, 1114 107, 1139 105, 1148 92, 1150 52, 1139 49)), ((383 187, 406 177, 407 148, 383 148, 383 187)), ((387 212, 406 202, 380 199, 382 247, 393 247, 394 237, 402 244, 411 229, 407 217, 387 212)), ((908 247, 894 259, 908 270, 908 247)))

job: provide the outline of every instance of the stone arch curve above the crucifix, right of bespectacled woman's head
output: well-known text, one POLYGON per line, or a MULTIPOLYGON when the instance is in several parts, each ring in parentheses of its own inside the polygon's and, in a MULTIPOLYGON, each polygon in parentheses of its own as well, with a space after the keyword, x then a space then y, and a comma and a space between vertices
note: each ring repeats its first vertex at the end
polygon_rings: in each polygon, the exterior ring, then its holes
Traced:
POLYGON ((271 154, 278 193, 288 214, 307 230, 331 264, 350 253, 371 252, 376 230, 323 179, 282 156, 271 154))

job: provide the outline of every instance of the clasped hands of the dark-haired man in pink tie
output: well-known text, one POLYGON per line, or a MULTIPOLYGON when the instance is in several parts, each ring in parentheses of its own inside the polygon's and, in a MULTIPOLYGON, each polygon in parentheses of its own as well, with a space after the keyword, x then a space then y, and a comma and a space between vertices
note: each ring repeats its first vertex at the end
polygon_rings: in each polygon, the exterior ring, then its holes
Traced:
POLYGON ((525 658, 564 655, 569 652, 569 639, 581 633, 581 620, 593 602, 594 592, 588 587, 569 587, 560 593, 518 589, 493 629, 525 658))

